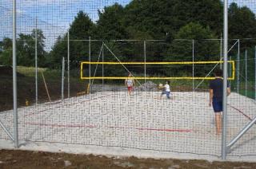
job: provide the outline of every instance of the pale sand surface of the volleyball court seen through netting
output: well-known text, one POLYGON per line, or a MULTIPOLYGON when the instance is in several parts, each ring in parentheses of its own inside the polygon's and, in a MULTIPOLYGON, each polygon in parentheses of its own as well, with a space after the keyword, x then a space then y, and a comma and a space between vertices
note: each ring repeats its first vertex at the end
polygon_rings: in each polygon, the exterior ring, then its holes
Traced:
MULTIPOLYGON (((106 147, 219 155, 213 110, 206 92, 94 92, 52 103, 19 108, 19 138, 39 142, 77 143, 106 147)), ((232 93, 228 105, 228 140, 255 116, 256 104, 232 93), (241 101, 246 101, 242 104, 241 101), (250 104, 250 106, 248 105, 250 104)), ((12 111, 1 112, 10 122, 12 111)), ((8 124, 6 124, 8 126, 8 124)), ((231 155, 254 155, 255 128, 251 128, 231 155)), ((6 135, 1 131, 2 139, 6 135)))

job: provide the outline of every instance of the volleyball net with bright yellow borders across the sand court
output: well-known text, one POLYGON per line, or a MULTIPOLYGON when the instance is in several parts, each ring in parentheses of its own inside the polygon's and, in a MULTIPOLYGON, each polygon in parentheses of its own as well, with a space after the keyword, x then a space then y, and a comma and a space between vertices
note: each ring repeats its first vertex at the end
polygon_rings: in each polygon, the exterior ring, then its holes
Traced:
MULTIPOLYGON (((80 75, 82 80, 125 80, 127 77, 124 77, 122 75, 126 75, 127 73, 131 73, 133 75, 133 78, 135 80, 213 80, 214 77, 210 77, 210 73, 217 67, 217 65, 222 64, 223 61, 180 61, 180 62, 95 62, 95 61, 82 61, 81 62, 81 69, 80 69, 80 75), (187 68, 190 69, 198 69, 200 67, 201 69, 209 69, 211 68, 212 70, 209 72, 205 72, 205 77, 195 77, 194 72, 184 72, 183 74, 191 74, 192 77, 166 77, 166 75, 170 75, 170 72, 174 69, 180 69, 181 65, 186 66, 187 68), (154 73, 152 72, 147 72, 146 67, 150 66, 150 71, 151 69, 154 69, 154 73), (121 70, 120 76, 114 77, 111 76, 109 77, 106 73, 106 76, 95 76, 96 74, 99 74, 97 69, 98 67, 101 67, 102 75, 105 72, 110 71, 111 67, 114 67, 115 72, 117 70, 121 70), (130 68, 130 69, 129 69, 130 68), (105 69, 105 70, 104 70, 105 69), (122 71, 122 69, 124 71, 122 71), (137 69, 137 70, 134 70, 137 69), (162 74, 160 74, 163 71, 162 74), (141 73, 134 73, 140 71, 141 73), (90 74, 92 73, 93 74, 90 74), (143 74, 144 77, 137 75, 137 74, 143 74)), ((230 73, 230 77, 228 80, 234 80, 235 77, 235 62, 234 61, 228 61, 228 64, 230 66, 230 69, 232 69, 230 73)), ((198 74, 198 73, 197 73, 198 74)), ((204 74, 204 73, 201 73, 204 74)), ((212 76, 212 75, 211 75, 212 76)))

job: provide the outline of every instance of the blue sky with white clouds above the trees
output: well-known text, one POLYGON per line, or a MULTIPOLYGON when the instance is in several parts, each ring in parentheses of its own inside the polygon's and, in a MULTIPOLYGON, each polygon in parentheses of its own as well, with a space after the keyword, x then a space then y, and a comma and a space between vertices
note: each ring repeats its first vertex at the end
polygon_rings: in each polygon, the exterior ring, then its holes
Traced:
MULTIPOLYGON (((54 44, 55 39, 64 33, 78 14, 83 10, 96 22, 98 10, 118 2, 126 6, 131 0, 17 0, 18 33, 31 33, 35 28, 35 18, 38 18, 38 28, 42 29, 47 46, 54 44)), ((256 14, 256 0, 230 0, 238 6, 248 6, 256 14)), ((0 0, 0 40, 11 37, 12 1, 0 0)))

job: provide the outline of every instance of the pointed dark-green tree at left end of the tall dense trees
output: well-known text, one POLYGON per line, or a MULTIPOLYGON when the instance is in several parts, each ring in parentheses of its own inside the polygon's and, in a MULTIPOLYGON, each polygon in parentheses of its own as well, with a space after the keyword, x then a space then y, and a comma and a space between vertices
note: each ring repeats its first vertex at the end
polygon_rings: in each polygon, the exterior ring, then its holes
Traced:
MULTIPOLYGON (((70 24, 70 67, 71 69, 78 69, 79 61, 86 61, 88 56, 88 40, 94 31, 94 22, 89 16, 82 11, 74 18, 74 22, 70 24)), ((49 57, 47 58, 47 65, 50 68, 59 69, 62 66, 62 57, 67 56, 67 36, 65 33, 63 37, 58 37, 49 57)), ((94 51, 94 49, 92 49, 94 51)))

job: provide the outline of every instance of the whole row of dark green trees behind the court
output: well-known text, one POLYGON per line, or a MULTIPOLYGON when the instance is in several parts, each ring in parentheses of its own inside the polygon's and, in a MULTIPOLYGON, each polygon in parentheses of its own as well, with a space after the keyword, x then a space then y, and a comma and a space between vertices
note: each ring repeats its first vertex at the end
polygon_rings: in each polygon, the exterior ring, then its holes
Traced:
MULTIPOLYGON (((223 27, 223 4, 218 0, 133 0, 126 6, 115 3, 98 10, 98 21, 79 11, 70 24, 70 67, 78 69, 79 61, 88 61, 89 42, 72 41, 101 39, 122 61, 143 61, 142 42, 111 41, 114 39, 158 39, 149 42, 147 61, 191 61, 192 39, 196 47, 196 61, 216 61, 219 59, 220 41, 223 27), (178 41, 180 39, 180 41, 178 41), (181 41, 186 39, 186 41, 181 41), (137 56, 135 56, 137 55, 137 56)), ((256 35, 255 14, 246 6, 236 3, 229 7, 229 38, 250 38, 256 35)), ((41 29, 33 29, 30 34, 19 33, 17 39, 18 65, 34 66, 35 32, 38 34, 38 64, 41 67, 59 69, 62 57, 67 55, 67 32, 58 37, 50 51, 45 50, 45 39, 41 29)), ((231 44, 231 41, 230 41, 231 44)), ((255 41, 246 41, 241 51, 251 48, 255 41)), ((102 41, 91 41, 91 56, 97 61, 102 41)), ((11 39, 0 41, 0 65, 11 65, 11 39)), ((106 61, 116 61, 105 51, 106 61)), ((231 53, 232 54, 232 53, 231 53)), ((148 68, 150 69, 150 67, 148 68)), ((152 72, 154 68, 152 67, 152 72)), ((179 66, 172 73, 178 73, 188 66, 179 66)), ((198 68, 199 70, 200 68, 198 68)), ((113 68, 106 69, 110 75, 118 73, 113 68)), ((138 72, 141 68, 138 69, 138 72)), ((161 71, 161 69, 159 69, 161 71)), ((166 69, 162 69, 166 74, 166 69)))

